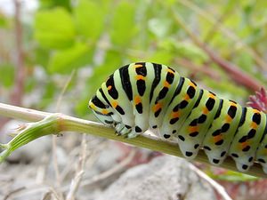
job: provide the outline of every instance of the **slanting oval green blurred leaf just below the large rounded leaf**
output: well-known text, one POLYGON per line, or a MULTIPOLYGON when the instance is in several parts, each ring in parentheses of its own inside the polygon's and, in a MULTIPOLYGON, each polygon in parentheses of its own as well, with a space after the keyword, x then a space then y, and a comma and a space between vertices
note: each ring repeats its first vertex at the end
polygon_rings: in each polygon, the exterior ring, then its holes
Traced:
POLYGON ((74 46, 55 52, 48 64, 52 73, 69 73, 73 68, 83 67, 92 60, 93 50, 88 44, 77 43, 74 46))

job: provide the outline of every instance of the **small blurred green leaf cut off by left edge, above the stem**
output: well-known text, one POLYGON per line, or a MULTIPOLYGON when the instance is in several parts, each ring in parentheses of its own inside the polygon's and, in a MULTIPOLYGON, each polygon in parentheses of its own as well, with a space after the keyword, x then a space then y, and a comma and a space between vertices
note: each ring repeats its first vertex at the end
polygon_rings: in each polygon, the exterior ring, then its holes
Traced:
POLYGON ((14 83, 15 77, 15 68, 11 63, 4 63, 0 65, 0 74, 4 75, 0 78, 0 84, 3 84, 4 87, 11 87, 14 83))

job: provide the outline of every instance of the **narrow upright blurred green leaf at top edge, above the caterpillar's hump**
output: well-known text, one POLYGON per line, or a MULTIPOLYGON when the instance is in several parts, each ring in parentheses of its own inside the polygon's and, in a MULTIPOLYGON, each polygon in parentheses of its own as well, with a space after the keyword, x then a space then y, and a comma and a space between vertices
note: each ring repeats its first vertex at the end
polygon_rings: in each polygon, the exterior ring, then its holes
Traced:
POLYGON ((128 45, 136 33, 134 4, 120 2, 114 11, 110 26, 110 39, 114 44, 128 45))

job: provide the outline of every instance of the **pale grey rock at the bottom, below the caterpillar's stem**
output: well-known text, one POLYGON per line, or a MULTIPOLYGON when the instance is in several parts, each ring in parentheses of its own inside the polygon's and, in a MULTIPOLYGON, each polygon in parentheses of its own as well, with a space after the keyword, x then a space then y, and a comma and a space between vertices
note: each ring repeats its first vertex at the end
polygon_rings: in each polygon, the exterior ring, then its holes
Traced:
POLYGON ((174 156, 158 156, 127 170, 96 200, 216 199, 213 188, 174 156))

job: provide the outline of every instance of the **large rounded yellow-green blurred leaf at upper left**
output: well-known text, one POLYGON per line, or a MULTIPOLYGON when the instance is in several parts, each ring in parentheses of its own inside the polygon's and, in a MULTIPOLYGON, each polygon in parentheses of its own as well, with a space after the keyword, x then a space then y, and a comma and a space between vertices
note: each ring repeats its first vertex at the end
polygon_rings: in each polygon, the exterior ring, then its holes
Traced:
POLYGON ((75 27, 69 12, 58 7, 36 13, 36 40, 46 48, 64 48, 74 42, 75 27))

